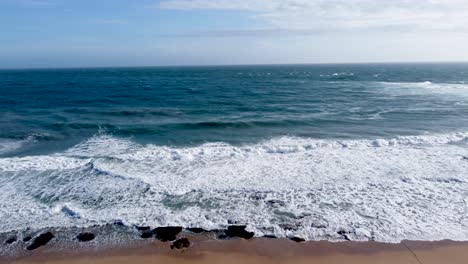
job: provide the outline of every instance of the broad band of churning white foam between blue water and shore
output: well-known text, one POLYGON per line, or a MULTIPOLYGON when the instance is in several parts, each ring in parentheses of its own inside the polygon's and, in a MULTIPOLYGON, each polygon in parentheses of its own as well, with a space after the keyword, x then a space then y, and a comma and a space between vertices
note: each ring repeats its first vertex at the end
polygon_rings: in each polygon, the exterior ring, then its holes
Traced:
POLYGON ((468 133, 253 145, 139 145, 97 136, 0 159, 0 231, 127 224, 397 242, 468 239, 468 133), (342 232, 340 232, 342 233, 342 232))

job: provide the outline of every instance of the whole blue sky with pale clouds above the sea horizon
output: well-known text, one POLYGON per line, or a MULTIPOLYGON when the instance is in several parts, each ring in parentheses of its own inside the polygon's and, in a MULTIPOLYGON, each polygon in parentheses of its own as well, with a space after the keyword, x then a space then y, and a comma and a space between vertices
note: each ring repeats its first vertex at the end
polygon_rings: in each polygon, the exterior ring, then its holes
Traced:
POLYGON ((0 0, 0 68, 468 61, 468 0, 0 0))

